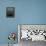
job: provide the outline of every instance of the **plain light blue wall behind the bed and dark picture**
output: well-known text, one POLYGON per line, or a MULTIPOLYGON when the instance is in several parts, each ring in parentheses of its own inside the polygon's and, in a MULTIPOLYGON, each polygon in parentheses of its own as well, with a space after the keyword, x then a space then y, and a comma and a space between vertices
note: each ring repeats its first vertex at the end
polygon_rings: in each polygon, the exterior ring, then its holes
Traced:
POLYGON ((46 24, 46 0, 0 0, 0 43, 8 43, 17 24, 46 24), (6 7, 15 7, 15 18, 6 17, 6 7))

